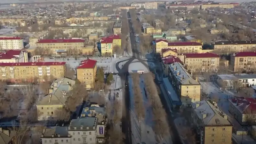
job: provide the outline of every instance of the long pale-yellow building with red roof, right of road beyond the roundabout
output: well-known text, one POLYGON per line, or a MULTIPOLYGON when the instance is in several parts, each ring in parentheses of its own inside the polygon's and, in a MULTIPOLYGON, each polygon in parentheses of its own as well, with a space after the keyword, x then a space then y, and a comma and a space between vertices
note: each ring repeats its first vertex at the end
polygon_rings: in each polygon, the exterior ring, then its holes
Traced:
POLYGON ((176 49, 179 54, 184 53, 202 53, 202 44, 196 42, 173 42, 169 43, 167 40, 156 40, 153 49, 156 53, 161 53, 162 49, 176 49))

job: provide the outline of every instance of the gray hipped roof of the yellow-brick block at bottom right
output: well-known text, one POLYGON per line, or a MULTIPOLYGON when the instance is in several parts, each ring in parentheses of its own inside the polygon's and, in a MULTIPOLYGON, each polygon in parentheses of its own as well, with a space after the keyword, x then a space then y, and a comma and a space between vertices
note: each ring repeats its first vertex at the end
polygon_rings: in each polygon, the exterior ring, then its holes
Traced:
POLYGON ((191 105, 197 117, 202 120, 205 126, 231 125, 228 120, 224 118, 226 115, 217 106, 214 106, 210 101, 197 101, 193 102, 191 105))

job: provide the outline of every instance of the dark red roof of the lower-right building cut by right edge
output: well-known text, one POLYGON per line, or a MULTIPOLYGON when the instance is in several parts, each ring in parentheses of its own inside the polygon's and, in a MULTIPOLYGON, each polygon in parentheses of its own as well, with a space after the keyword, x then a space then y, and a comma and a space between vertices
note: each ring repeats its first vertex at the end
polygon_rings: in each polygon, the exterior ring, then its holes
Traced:
POLYGON ((231 102, 236 105, 243 113, 256 114, 256 99, 255 98, 244 98, 237 97, 231 98, 231 102))

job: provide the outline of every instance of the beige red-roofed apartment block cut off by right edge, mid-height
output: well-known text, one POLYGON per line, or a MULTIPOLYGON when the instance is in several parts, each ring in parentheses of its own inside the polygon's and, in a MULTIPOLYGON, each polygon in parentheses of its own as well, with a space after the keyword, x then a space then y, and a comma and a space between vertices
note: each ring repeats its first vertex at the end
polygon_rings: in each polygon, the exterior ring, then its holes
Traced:
POLYGON ((255 52, 237 52, 230 56, 229 69, 234 72, 254 71, 256 69, 255 52))

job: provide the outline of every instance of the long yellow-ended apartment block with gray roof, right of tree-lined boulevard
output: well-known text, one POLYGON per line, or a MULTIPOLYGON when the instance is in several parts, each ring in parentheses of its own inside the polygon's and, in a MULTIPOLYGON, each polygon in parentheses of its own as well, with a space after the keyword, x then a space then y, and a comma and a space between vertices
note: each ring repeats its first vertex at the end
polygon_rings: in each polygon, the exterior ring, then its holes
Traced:
POLYGON ((180 97, 182 106, 187 106, 191 102, 200 101, 201 85, 194 80, 180 62, 169 65, 170 81, 180 97))

